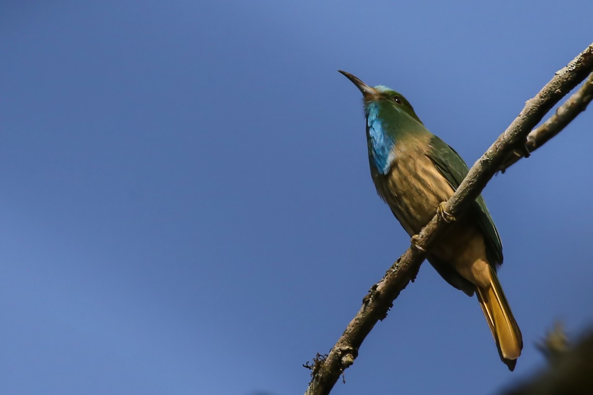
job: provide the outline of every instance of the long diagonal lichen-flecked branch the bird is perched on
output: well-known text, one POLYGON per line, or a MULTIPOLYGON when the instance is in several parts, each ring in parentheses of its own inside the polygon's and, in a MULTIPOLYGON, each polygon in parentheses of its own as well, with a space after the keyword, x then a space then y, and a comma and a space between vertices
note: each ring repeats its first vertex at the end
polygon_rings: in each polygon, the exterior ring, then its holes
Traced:
MULTIPOLYGON (((509 152, 518 147, 525 147, 527 134, 550 111, 552 107, 570 92, 586 76, 593 72, 593 44, 573 59, 568 66, 556 72, 556 75, 535 95, 525 103, 525 108, 506 129, 505 133, 471 167, 466 178, 461 182, 455 194, 444 206, 445 212, 459 216, 463 209, 482 192, 492 176, 501 169, 509 152)), ((441 220, 438 214, 413 237, 413 246, 400 256, 385 277, 375 284, 364 298, 361 310, 347 325, 346 330, 333 346, 329 355, 315 362, 312 379, 305 395, 329 394, 331 388, 342 372, 354 363, 358 349, 366 335, 378 320, 387 316, 401 290, 416 277, 420 264, 435 238, 443 232, 448 223, 441 220)))

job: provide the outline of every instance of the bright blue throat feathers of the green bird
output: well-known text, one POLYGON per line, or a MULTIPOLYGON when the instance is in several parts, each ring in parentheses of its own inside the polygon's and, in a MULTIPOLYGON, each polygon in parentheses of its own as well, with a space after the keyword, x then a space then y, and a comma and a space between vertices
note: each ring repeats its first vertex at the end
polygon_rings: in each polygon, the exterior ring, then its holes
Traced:
POLYGON ((380 174, 387 174, 391 168, 391 163, 395 159, 393 146, 396 144, 393 137, 385 133, 385 125, 381 118, 379 118, 379 104, 378 102, 370 102, 365 106, 366 113, 366 129, 368 139, 370 140, 369 156, 371 163, 380 174))

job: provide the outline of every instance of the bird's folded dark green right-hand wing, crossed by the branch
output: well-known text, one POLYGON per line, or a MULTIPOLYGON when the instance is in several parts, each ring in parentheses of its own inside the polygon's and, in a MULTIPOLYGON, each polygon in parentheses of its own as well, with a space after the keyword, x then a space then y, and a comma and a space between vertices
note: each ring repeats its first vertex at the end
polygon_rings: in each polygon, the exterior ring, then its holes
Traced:
MULTIPOLYGON (((461 159, 461 156, 454 149, 438 137, 433 136, 430 144, 432 150, 428 153, 428 158, 432 160, 438 171, 447 179, 449 185, 457 190, 457 187, 466 178, 469 171, 466 162, 461 159)), ((490 265, 496 268, 496 265, 502 264, 502 243, 500 243, 498 231, 490 217, 490 213, 488 213, 482 195, 477 197, 476 201, 471 204, 467 215, 473 217, 477 226, 482 230, 484 242, 486 243, 486 256, 490 265)))

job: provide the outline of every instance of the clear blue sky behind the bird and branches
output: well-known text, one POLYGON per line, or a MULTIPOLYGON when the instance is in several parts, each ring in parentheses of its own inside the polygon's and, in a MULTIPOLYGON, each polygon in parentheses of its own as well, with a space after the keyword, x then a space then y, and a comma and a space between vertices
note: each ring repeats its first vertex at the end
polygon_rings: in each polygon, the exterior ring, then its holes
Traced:
MULTIPOLYGON (((473 163, 592 40, 580 2, 3 1, 0 393, 298 394, 409 245, 361 95, 473 163)), ((484 191, 524 354, 431 266, 336 394, 493 394, 593 320, 593 110, 484 191)))

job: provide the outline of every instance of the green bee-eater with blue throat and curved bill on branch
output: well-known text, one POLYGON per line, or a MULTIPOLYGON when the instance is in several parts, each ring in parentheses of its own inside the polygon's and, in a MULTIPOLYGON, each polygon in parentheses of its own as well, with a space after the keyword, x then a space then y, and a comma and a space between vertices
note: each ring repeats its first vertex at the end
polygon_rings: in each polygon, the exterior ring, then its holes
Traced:
POLYGON ((426 129, 399 92, 366 85, 338 71, 362 92, 369 167, 377 194, 412 242, 436 213, 452 222, 426 251, 427 259, 453 287, 468 296, 476 294, 499 357, 513 371, 523 341, 496 275, 503 260, 498 230, 482 195, 459 218, 445 211, 445 202, 469 171, 466 162, 426 129))

